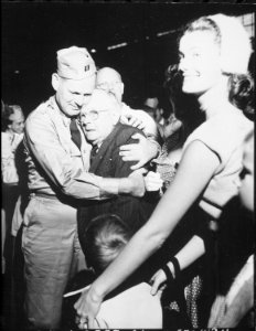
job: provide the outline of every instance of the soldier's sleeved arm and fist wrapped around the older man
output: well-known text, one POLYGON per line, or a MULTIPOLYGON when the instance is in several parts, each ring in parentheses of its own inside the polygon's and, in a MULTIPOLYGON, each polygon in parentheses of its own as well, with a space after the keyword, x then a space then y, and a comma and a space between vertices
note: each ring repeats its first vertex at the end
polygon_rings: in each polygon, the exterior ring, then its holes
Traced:
POLYGON ((26 120, 24 142, 31 158, 30 171, 34 171, 32 180, 35 189, 49 186, 49 182, 65 195, 93 200, 122 193, 142 196, 145 193, 140 173, 124 179, 103 179, 74 166, 67 151, 68 146, 62 142, 54 125, 46 117, 26 120), (45 177, 44 183, 39 172, 45 177))

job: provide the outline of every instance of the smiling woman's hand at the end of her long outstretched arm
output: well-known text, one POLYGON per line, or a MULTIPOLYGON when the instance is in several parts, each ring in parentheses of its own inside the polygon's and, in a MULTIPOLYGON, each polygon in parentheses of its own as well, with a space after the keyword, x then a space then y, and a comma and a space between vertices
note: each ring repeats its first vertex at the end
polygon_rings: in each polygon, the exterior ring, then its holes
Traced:
POLYGON ((79 329, 95 328, 95 318, 99 311, 102 299, 93 293, 92 287, 85 289, 74 308, 77 313, 76 322, 79 329))

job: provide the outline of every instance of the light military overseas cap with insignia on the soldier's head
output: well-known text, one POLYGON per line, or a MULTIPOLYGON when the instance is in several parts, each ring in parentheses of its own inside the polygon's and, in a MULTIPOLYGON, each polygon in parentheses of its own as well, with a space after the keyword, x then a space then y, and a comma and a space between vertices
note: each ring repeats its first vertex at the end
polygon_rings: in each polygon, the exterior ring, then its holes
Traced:
POLYGON ((84 79, 96 73, 93 57, 85 47, 72 46, 57 51, 57 74, 66 79, 84 79))

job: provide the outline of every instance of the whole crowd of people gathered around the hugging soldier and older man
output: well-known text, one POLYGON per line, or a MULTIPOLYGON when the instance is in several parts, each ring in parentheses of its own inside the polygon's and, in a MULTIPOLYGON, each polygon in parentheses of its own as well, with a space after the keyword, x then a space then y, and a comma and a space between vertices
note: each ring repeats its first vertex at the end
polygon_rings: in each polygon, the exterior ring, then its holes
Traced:
POLYGON ((3 330, 254 325, 252 43, 214 14, 178 45, 141 109, 77 46, 2 102, 3 330))

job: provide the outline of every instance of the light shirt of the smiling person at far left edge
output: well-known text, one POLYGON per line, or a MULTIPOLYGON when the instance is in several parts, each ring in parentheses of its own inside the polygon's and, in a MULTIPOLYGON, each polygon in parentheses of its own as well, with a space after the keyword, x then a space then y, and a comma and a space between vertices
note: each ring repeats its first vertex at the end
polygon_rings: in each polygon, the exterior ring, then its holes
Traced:
POLYGON ((15 150, 23 139, 23 134, 1 132, 2 147, 2 182, 18 184, 19 175, 15 167, 15 150))

